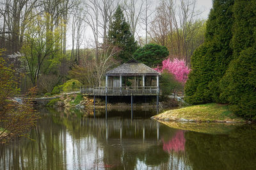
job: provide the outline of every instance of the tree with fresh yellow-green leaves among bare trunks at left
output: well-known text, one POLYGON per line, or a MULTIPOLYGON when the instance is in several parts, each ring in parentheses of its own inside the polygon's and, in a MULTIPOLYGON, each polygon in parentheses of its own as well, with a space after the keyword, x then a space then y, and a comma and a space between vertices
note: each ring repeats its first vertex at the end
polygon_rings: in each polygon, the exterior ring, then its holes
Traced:
MULTIPOLYGON (((30 15, 33 15, 31 13, 30 15)), ((38 85, 41 75, 54 75, 59 72, 63 54, 61 54, 61 26, 49 28, 49 13, 28 16, 29 20, 20 52, 22 64, 28 69, 28 76, 33 86, 38 85)), ((55 86, 56 84, 54 84, 55 86)))

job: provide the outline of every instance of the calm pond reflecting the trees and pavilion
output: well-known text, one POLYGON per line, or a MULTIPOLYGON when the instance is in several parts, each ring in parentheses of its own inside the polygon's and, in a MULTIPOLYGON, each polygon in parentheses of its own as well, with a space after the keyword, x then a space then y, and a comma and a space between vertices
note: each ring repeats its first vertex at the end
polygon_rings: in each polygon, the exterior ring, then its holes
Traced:
POLYGON ((256 168, 255 125, 179 130, 150 120, 154 114, 41 109, 31 139, 0 145, 0 169, 256 168))

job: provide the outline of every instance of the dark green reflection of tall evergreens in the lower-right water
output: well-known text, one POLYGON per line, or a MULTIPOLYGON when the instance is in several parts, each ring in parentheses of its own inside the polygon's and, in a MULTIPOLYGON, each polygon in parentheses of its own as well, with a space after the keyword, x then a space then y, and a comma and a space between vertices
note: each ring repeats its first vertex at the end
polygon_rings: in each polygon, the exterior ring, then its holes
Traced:
POLYGON ((193 169, 255 169, 256 127, 237 127, 228 135, 186 132, 193 169))

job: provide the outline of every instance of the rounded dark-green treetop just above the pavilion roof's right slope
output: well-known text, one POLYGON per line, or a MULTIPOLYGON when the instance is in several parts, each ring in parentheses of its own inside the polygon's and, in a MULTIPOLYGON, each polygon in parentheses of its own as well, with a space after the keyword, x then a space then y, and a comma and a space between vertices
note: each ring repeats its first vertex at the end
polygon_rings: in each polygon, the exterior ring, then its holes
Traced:
POLYGON ((136 60, 150 67, 161 65, 164 58, 169 55, 166 47, 157 44, 147 44, 136 50, 133 56, 136 60))

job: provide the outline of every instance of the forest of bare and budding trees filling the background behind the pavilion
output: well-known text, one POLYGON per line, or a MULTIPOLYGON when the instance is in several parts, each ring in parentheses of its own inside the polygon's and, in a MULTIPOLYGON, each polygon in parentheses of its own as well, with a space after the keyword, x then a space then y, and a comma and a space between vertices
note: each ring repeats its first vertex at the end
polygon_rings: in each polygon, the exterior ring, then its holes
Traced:
POLYGON ((152 43, 168 49, 159 65, 169 56, 189 66, 205 33, 195 5, 195 0, 1 0, 0 48, 22 94, 33 86, 51 93, 70 79, 101 86, 107 70, 152 43), (119 39, 118 30, 123 30, 119 39))

